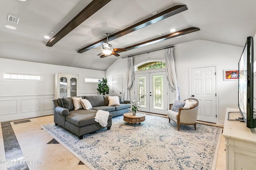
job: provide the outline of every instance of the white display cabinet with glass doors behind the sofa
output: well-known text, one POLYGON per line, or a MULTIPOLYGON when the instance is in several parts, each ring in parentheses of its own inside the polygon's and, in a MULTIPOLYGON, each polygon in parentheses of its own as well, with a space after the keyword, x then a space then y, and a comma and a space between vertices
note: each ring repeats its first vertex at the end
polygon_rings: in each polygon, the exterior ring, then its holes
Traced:
POLYGON ((55 73, 54 98, 78 96, 78 74, 55 73))

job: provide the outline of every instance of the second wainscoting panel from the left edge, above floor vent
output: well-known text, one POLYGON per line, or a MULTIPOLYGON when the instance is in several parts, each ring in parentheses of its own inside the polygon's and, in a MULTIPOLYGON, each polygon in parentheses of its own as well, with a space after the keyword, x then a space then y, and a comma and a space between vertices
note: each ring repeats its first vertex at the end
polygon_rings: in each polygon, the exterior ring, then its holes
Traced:
POLYGON ((40 99, 22 99, 21 100, 21 113, 28 111, 39 111, 40 110, 40 99))

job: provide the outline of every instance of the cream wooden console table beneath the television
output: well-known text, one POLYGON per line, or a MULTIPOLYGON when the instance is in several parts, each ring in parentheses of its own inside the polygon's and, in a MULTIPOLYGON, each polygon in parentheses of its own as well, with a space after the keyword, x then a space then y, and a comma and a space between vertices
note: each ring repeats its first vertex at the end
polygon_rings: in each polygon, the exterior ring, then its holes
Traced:
POLYGON ((226 142, 226 170, 256 170, 256 128, 249 129, 244 122, 229 121, 228 112, 239 112, 239 109, 226 109, 222 133, 226 142))

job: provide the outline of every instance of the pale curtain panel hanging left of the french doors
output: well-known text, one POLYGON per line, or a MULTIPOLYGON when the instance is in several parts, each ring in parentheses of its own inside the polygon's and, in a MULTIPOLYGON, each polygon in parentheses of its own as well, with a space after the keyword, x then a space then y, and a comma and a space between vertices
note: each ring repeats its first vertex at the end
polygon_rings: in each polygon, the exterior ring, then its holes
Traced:
POLYGON ((132 83, 133 83, 133 57, 127 57, 124 100, 130 100, 130 88, 132 87, 132 83))

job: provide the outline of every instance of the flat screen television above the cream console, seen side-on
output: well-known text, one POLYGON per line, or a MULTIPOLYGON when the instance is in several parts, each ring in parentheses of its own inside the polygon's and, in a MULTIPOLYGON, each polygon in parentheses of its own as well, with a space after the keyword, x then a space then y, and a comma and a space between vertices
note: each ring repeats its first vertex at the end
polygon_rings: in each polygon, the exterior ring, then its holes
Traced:
POLYGON ((238 63, 238 107, 246 127, 256 127, 253 107, 253 38, 247 37, 244 50, 238 63))

